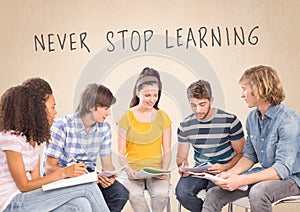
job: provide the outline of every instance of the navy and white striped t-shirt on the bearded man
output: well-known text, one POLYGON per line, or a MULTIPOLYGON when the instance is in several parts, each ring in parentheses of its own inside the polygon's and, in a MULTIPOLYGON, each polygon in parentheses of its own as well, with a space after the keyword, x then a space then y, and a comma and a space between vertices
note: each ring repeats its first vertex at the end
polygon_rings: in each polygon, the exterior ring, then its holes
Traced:
POLYGON ((179 143, 194 147, 195 165, 203 162, 225 164, 234 156, 231 142, 244 137, 241 122, 233 114, 216 109, 208 121, 200 121, 193 113, 187 116, 177 130, 179 143))

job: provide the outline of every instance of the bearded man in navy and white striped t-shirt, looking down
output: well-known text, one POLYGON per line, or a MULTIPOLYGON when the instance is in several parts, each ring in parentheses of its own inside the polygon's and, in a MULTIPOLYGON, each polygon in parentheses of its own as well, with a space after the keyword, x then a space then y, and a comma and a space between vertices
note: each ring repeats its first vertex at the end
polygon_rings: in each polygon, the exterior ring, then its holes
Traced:
POLYGON ((213 97, 208 82, 192 83, 187 96, 193 113, 180 123, 177 131, 176 162, 182 177, 176 186, 176 196, 186 209, 201 211, 203 200, 197 194, 214 184, 192 177, 180 168, 189 166, 190 145, 194 148, 195 166, 210 162, 213 166, 207 172, 215 175, 230 169, 242 157, 245 138, 242 124, 235 115, 212 107, 213 97))

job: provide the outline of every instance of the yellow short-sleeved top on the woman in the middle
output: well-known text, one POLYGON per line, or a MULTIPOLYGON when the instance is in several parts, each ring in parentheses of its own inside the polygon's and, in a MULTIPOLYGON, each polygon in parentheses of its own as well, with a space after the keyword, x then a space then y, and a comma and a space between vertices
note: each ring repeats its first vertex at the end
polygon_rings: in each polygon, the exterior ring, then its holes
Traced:
POLYGON ((144 167, 162 168, 162 133, 171 126, 169 116, 157 110, 152 122, 139 122, 131 110, 119 121, 127 131, 125 157, 132 169, 144 167))

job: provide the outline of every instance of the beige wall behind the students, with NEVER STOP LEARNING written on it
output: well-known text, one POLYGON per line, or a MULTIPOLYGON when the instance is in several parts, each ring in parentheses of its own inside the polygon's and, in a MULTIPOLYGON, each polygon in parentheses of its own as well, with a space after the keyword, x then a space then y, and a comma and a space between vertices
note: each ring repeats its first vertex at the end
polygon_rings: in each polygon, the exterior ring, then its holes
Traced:
MULTIPOLYGON (((185 87, 197 78, 212 82, 216 97, 215 105, 236 113, 243 124, 249 109, 240 98, 237 81, 243 71, 251 66, 265 64, 278 70, 287 93, 286 104, 300 111, 300 19, 297 0, 194 0, 194 1, 16 1, 1 0, 0 6, 0 93, 8 87, 21 83, 32 76, 48 80, 57 100, 58 117, 72 113, 78 94, 88 82, 102 82, 119 96, 109 119, 115 133, 115 121, 128 106, 134 77, 145 66, 164 73, 161 108, 173 121, 173 152, 176 152, 176 128, 188 109, 185 87), (250 31, 258 26, 248 39, 250 31), (234 27, 244 30, 245 44, 234 45, 234 27), (182 28, 182 29, 180 29, 182 28), (200 47, 198 30, 206 28, 205 41, 200 47), (122 36, 118 31, 128 30, 124 35, 126 45, 122 49, 122 36), (196 47, 190 41, 185 47, 189 29, 194 35, 196 47), (211 29, 220 29, 221 46, 212 46, 211 29), (128 45, 130 34, 136 30, 144 36, 145 30, 154 35, 144 50, 133 51, 128 45), (166 30, 168 45, 166 47, 166 30), (106 39, 109 31, 115 50, 106 39), (149 31, 148 31, 149 32, 149 31), (176 33, 182 36, 183 46, 177 46, 176 33), (229 37, 226 36, 227 33, 229 37), (61 41, 66 33, 65 47, 61 41), (70 34, 73 48, 70 49, 70 34), (83 48, 80 34, 87 33, 83 48), (50 35, 43 51, 35 50, 34 36, 50 35), (254 36, 254 37, 253 37, 254 36), (229 42, 229 44, 228 44, 229 42), (87 49, 88 48, 88 49, 87 49), (170 78, 172 76, 173 78, 170 78), (180 86, 173 85, 175 83, 180 86), (123 87, 122 87, 122 86, 123 87), (173 86, 173 87, 172 87, 173 86), (126 88, 126 89, 123 89, 126 88), (125 98, 124 98, 124 95, 125 98), (176 95, 174 95, 176 94, 176 95), (123 98, 122 98, 123 97, 123 98)), ((84 34, 81 34, 84 36, 84 34)), ((146 35, 149 36, 149 34, 146 35)), ((203 35, 203 34, 202 34, 203 35)), ((190 35, 191 36, 191 35, 190 35)), ((83 38, 83 37, 82 37, 83 38)), ((149 38, 149 37, 148 37, 149 38)), ((191 38, 191 37, 189 37, 191 38)), ((133 45, 137 45, 134 37, 133 45)), ((114 134, 115 135, 115 134, 114 134)), ((114 142, 115 142, 114 136, 114 142)), ((113 146, 115 150, 115 146, 113 146)), ((174 163, 173 163, 174 165, 174 163)), ((174 181, 176 181, 176 177, 174 181)))

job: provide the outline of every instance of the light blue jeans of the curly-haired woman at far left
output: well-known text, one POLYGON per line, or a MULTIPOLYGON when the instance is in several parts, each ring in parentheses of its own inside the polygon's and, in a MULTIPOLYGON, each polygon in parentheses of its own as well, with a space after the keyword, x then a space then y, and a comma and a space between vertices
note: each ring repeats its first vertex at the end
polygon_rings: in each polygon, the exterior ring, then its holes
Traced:
POLYGON ((50 191, 41 188, 17 194, 4 212, 109 211, 96 183, 87 183, 50 191))

